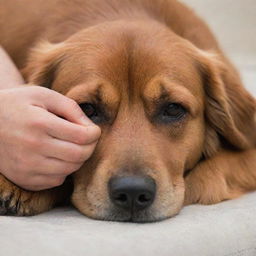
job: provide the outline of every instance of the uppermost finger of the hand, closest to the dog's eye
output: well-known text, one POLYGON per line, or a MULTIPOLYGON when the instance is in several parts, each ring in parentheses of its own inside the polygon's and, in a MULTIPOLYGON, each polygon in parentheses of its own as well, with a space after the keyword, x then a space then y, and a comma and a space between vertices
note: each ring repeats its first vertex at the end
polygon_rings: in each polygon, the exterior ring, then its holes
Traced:
POLYGON ((70 122, 80 125, 92 125, 93 122, 84 114, 79 105, 72 99, 47 88, 36 87, 34 97, 37 99, 35 105, 38 105, 38 99, 41 100, 40 107, 44 107, 55 115, 64 117, 70 122))

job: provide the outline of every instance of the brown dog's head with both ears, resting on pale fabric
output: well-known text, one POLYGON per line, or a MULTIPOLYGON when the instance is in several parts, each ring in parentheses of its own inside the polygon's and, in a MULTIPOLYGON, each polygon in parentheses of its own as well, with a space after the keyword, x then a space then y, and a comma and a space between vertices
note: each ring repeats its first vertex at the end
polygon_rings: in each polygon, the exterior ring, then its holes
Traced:
POLYGON ((255 141, 253 100, 236 82, 227 85, 233 78, 221 59, 158 23, 109 22, 44 44, 25 73, 75 99, 101 127, 72 195, 93 218, 173 216, 183 205, 186 172, 220 147, 255 141))

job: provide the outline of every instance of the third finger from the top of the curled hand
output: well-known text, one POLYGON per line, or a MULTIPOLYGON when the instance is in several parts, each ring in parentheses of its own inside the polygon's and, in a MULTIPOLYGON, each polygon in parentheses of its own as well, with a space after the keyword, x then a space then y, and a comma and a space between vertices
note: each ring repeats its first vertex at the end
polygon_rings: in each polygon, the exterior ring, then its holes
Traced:
POLYGON ((93 153, 96 142, 90 145, 77 145, 74 143, 50 138, 41 145, 41 153, 46 157, 56 158, 71 163, 83 163, 93 153))

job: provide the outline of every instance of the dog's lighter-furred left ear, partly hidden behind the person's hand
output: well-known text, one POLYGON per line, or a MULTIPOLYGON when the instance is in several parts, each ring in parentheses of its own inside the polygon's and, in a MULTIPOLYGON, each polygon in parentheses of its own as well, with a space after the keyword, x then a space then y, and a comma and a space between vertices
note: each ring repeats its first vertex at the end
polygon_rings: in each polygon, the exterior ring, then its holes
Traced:
POLYGON ((51 88, 57 67, 64 57, 64 43, 42 42, 31 51, 27 65, 21 73, 26 82, 51 88))

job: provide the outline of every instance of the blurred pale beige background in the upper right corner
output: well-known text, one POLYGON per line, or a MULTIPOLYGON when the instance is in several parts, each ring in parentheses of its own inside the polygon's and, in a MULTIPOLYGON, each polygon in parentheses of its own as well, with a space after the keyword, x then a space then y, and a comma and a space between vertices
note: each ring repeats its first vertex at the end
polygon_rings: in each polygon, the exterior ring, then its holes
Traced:
POLYGON ((256 0, 182 0, 210 26, 256 96, 256 0))

